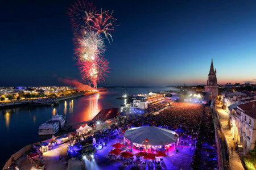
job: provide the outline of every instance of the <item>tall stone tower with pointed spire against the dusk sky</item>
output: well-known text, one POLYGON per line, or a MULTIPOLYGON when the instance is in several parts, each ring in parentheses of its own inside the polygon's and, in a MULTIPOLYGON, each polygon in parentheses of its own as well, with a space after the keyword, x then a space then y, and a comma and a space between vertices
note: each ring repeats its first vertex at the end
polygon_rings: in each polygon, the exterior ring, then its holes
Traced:
POLYGON ((216 69, 214 71, 213 62, 210 64, 210 72, 208 74, 207 86, 204 86, 205 92, 212 92, 214 97, 218 96, 218 83, 216 69))

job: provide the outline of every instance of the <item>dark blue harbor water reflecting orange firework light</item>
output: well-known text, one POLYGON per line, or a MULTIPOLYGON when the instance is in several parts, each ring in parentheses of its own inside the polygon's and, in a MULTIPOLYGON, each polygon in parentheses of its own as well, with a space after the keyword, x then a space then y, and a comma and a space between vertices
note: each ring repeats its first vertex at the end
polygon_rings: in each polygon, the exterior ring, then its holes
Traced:
MULTIPOLYGON (((0 168, 12 154, 31 143, 51 136, 39 136, 38 128, 52 115, 63 114, 67 123, 92 120, 101 109, 119 107, 123 95, 175 90, 171 87, 116 87, 108 91, 61 102, 56 107, 15 107, 0 109, 0 168)), ((73 127, 77 128, 77 127, 73 127)))

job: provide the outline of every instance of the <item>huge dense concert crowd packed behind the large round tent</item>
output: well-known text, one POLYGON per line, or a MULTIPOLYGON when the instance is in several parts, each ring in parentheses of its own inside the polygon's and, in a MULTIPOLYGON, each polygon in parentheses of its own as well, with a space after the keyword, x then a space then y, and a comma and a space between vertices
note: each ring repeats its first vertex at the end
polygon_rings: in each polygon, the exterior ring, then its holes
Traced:
MULTIPOLYGON (((123 131, 133 127, 151 125, 170 129, 179 134, 179 143, 177 143, 177 145, 188 146, 190 151, 193 152, 191 167, 198 168, 200 162, 197 161, 196 156, 201 156, 198 155, 198 153, 201 152, 202 147, 200 146, 203 141, 208 141, 212 148, 212 152, 209 154, 212 154, 213 158, 216 158, 214 155, 216 153, 216 149, 214 148, 214 128, 212 128, 213 124, 210 116, 209 107, 205 107, 204 105, 173 103, 171 107, 164 109, 164 111, 159 114, 148 114, 146 117, 129 117, 118 124, 110 126, 110 128, 84 135, 82 138, 84 138, 85 141, 95 140, 96 143, 94 143, 94 145, 96 145, 96 147, 98 145, 102 145, 103 147, 105 143, 108 143, 109 139, 115 138, 117 135, 122 134, 123 131), (207 130, 202 132, 202 130, 200 130, 202 127, 204 129, 207 128, 207 130), (199 134, 203 134, 203 138, 199 138, 199 134)), ((213 169, 216 166, 216 159, 214 159, 212 165, 209 165, 209 167, 213 169)))

